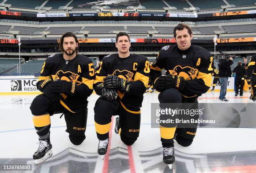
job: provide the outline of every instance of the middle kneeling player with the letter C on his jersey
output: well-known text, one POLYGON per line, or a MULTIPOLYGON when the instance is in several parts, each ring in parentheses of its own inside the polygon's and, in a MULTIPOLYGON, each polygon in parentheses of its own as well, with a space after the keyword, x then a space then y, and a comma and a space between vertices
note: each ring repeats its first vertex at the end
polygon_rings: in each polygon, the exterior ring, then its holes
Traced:
POLYGON ((94 89, 101 95, 95 103, 94 120, 98 154, 107 153, 112 115, 116 118, 115 133, 125 145, 137 140, 141 123, 141 103, 149 80, 149 62, 143 55, 131 54, 130 37, 125 32, 116 36, 118 53, 105 56, 96 71, 94 89))

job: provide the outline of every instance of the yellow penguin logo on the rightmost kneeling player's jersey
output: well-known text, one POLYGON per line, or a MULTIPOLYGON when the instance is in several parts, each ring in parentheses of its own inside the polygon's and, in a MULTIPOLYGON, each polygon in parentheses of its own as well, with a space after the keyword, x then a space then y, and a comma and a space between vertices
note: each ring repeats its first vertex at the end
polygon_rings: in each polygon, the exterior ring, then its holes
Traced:
POLYGON ((180 65, 174 67, 174 70, 169 70, 170 74, 182 76, 185 80, 195 79, 197 72, 198 70, 195 68, 191 68, 189 66, 181 67, 180 65))

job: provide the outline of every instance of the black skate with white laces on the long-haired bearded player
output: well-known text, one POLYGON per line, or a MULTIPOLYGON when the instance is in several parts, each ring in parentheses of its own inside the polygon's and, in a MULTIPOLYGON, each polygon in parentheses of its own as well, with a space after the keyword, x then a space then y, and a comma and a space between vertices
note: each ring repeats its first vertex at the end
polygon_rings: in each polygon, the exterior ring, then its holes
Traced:
POLYGON ((39 146, 36 152, 33 154, 33 159, 36 160, 36 164, 42 163, 44 160, 48 159, 52 155, 52 145, 50 137, 40 140, 38 142, 39 146))

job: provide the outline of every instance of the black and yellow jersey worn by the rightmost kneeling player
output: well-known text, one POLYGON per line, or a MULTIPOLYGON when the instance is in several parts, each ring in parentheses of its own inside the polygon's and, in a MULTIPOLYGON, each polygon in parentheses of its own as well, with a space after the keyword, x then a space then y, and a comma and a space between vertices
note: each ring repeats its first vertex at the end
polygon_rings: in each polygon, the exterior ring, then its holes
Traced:
POLYGON ((180 75, 187 81, 179 92, 185 98, 197 98, 210 88, 213 68, 213 57, 208 50, 194 45, 180 50, 177 45, 168 45, 161 48, 151 65, 151 76, 159 77, 162 69, 166 74, 180 75))

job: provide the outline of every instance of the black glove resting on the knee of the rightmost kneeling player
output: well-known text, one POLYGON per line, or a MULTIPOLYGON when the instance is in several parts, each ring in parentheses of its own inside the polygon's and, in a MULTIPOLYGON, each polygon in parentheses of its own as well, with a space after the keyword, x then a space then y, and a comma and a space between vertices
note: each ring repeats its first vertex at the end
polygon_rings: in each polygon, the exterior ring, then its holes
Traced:
POLYGON ((183 90, 186 80, 179 75, 161 75, 154 82, 154 88, 161 92, 169 88, 183 90))

